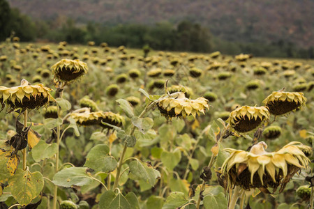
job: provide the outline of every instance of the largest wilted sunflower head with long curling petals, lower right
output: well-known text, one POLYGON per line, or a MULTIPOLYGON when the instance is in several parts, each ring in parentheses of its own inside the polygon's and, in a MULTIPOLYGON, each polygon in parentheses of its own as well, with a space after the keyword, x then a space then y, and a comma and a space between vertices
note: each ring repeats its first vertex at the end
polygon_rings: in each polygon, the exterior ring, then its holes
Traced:
POLYGON ((298 141, 292 141, 273 153, 265 151, 266 148, 267 144, 262 141, 252 146, 250 152, 225 149, 230 156, 220 171, 227 177, 225 180, 229 187, 239 185, 247 190, 260 188, 267 193, 267 187, 271 187, 274 193, 280 186, 279 192, 283 192, 294 174, 308 167, 311 162, 306 156, 312 153, 312 148, 298 141))

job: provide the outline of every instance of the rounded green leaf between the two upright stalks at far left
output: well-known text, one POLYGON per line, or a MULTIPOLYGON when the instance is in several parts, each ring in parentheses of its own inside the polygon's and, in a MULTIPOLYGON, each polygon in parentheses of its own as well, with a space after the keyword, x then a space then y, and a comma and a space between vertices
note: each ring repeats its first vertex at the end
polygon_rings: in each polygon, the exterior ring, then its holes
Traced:
POLYGON ((45 141, 40 140, 31 150, 31 156, 33 157, 33 160, 40 162, 40 160, 45 160, 46 158, 54 156, 57 151, 58 145, 56 143, 47 144, 45 141))

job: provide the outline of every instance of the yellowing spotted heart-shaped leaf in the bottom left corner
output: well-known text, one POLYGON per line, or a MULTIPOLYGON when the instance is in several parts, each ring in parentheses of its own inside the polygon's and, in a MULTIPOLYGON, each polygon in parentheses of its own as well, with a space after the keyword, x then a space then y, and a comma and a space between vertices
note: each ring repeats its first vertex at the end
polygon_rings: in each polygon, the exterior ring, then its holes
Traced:
POLYGON ((11 194, 22 206, 26 206, 36 198, 43 189, 43 175, 40 172, 29 172, 17 169, 14 176, 8 180, 11 194))

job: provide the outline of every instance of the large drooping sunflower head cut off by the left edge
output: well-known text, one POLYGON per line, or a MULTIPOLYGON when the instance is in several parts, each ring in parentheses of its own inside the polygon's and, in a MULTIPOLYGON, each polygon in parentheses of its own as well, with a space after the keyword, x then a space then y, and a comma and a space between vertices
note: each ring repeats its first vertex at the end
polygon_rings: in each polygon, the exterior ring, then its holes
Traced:
POLYGON ((52 95, 51 88, 43 84, 31 85, 27 80, 22 79, 20 86, 8 88, 0 86, 0 102, 2 109, 4 104, 9 104, 11 109, 38 109, 49 104, 52 95))

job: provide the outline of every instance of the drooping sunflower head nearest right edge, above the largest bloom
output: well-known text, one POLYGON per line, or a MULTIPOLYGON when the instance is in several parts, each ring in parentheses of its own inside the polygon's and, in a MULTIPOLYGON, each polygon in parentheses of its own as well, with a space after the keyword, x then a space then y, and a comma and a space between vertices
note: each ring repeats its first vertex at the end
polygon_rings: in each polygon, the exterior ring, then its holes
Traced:
POLYGON ((304 93, 273 91, 263 103, 269 108, 269 112, 275 116, 287 114, 299 109, 306 104, 304 93))

